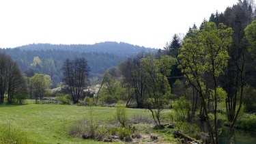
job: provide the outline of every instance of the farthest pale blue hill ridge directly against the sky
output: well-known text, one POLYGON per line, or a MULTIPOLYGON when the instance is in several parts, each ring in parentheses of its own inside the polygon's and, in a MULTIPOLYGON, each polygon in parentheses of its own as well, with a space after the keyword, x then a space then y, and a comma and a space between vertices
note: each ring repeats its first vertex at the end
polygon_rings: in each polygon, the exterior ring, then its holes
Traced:
POLYGON ((97 52, 97 53, 111 53, 118 56, 130 57, 137 53, 155 52, 155 48, 145 48, 144 46, 136 46, 124 42, 100 42, 96 44, 29 44, 25 46, 18 46, 20 50, 24 51, 41 51, 41 50, 63 50, 63 51, 76 51, 76 52, 97 52))

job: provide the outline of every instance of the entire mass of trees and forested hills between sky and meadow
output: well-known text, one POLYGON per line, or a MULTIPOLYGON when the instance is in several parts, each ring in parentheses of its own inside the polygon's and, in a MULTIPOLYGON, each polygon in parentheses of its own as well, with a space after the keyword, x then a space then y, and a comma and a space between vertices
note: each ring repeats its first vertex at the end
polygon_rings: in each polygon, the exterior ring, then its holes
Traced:
MULTIPOLYGON (((2 48, 0 103, 116 106, 128 130, 124 141, 132 134, 126 108, 147 109, 157 130, 165 128, 170 110, 179 128, 173 136, 219 143, 225 126, 233 143, 234 129, 256 131, 255 18, 253 1, 239 0, 186 35, 173 35, 162 49, 124 42, 2 48), (198 123, 205 125, 205 139, 189 127, 199 129, 198 123)), ((102 141, 95 133, 84 139, 94 138, 102 141)))

